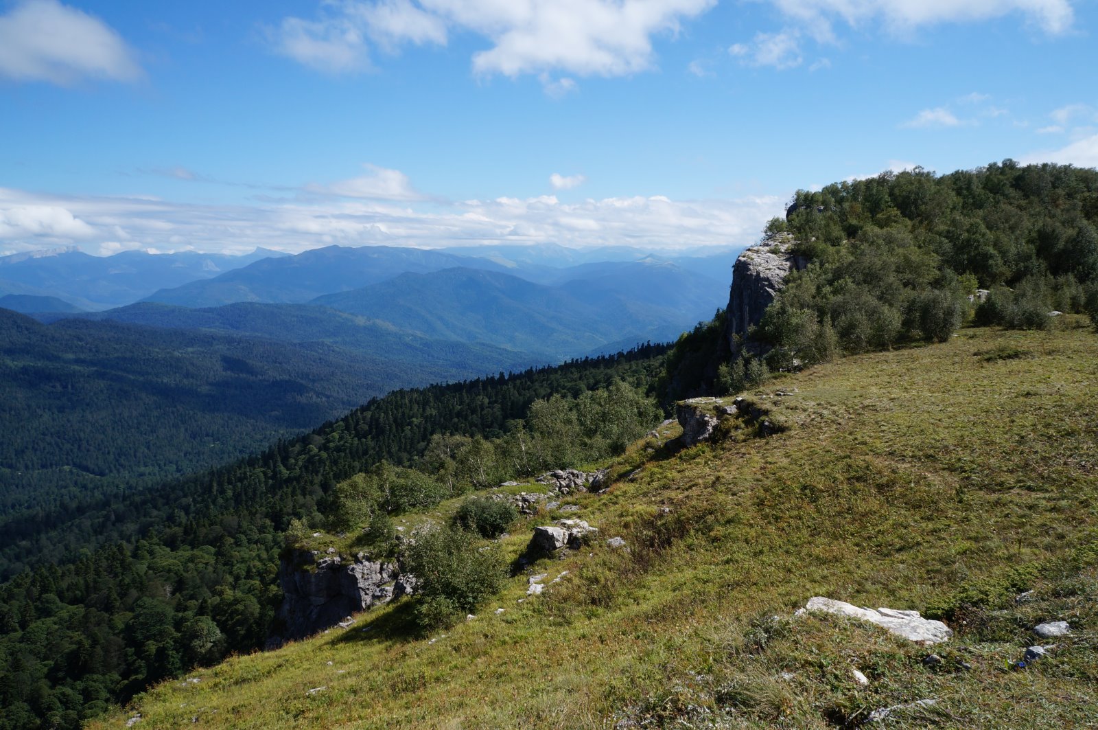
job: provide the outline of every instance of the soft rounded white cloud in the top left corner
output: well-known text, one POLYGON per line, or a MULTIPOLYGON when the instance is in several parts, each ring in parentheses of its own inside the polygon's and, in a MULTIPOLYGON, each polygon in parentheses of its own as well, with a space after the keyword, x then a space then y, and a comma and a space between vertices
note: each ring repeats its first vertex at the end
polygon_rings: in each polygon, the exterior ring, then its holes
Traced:
POLYGON ((134 54, 111 26, 57 0, 24 0, 0 15, 0 76, 68 86, 85 78, 133 81, 134 54))

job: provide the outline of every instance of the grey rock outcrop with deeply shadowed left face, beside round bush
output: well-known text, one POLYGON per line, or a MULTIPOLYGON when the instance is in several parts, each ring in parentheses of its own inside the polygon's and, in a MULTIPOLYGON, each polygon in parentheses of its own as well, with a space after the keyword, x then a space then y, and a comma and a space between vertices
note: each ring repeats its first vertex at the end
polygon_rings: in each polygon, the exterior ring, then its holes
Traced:
POLYGON ((402 576, 396 563, 371 561, 359 553, 354 562, 338 555, 294 552, 279 566, 282 605, 279 618, 285 639, 302 639, 334 627, 346 617, 385 604, 414 590, 414 578, 402 576))

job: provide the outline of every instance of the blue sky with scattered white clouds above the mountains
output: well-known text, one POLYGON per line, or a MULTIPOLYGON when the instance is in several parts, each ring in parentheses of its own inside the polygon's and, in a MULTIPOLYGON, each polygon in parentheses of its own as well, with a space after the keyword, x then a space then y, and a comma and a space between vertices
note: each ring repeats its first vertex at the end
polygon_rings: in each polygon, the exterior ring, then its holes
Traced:
POLYGON ((1094 0, 0 0, 0 254, 742 246, 1098 166, 1094 0))

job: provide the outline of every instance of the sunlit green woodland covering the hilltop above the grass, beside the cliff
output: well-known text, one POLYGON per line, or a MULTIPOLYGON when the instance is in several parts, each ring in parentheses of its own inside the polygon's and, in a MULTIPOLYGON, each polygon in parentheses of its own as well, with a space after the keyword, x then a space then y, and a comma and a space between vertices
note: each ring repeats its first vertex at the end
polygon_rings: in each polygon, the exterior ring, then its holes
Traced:
POLYGON ((766 234, 805 268, 736 360, 722 322, 687 335, 669 360, 674 395, 732 392, 768 370, 941 342, 971 321, 1044 329, 1053 312, 1098 314, 1094 169, 1007 159, 942 176, 885 173, 799 190, 766 234))

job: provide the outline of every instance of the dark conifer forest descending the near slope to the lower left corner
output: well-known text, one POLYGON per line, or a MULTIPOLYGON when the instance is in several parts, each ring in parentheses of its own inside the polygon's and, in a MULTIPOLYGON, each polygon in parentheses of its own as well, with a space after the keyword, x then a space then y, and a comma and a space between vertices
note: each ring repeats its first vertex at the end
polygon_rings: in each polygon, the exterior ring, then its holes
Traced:
MULTIPOLYGON (((261 646, 281 599, 282 533, 293 519, 323 522, 337 484, 382 461, 416 464, 433 436, 503 443, 539 400, 651 388, 664 351, 397 390, 260 455, 69 522, 52 539, 75 561, 0 588, 0 728, 76 727, 150 682, 261 646), (107 542, 81 550, 90 535, 107 542)), ((549 411, 567 420, 576 409, 549 411)))

